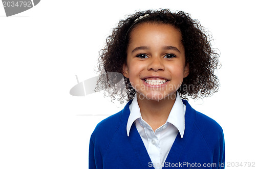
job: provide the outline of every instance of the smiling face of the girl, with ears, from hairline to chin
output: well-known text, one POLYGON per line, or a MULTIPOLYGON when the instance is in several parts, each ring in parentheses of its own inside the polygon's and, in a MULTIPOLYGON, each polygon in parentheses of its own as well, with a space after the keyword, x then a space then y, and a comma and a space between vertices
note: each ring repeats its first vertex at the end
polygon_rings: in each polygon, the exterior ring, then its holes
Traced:
POLYGON ((159 101, 174 94, 188 75, 181 33, 168 24, 142 23, 135 27, 123 75, 140 94, 138 99, 159 101))

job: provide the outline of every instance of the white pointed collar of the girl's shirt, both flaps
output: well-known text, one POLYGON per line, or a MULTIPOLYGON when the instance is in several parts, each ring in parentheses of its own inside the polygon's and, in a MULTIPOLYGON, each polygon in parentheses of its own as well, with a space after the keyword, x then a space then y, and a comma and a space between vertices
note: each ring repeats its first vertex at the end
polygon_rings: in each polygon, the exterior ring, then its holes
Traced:
MULTIPOLYGON (((172 110, 166 122, 173 124, 180 132, 181 138, 184 135, 185 131, 185 105, 180 98, 180 94, 177 92, 176 100, 174 102, 172 110)), ((130 116, 127 121, 126 131, 127 136, 129 136, 130 129, 133 125, 133 122, 141 117, 140 107, 137 100, 137 95, 135 95, 132 103, 130 104, 130 116)))

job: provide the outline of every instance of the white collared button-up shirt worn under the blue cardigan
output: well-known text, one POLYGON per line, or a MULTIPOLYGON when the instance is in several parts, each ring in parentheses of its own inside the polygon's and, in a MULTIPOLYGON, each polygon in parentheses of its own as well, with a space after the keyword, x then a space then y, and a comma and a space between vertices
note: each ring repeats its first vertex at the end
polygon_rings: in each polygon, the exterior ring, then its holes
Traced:
POLYGON ((170 110, 166 123, 154 132, 152 127, 141 117, 136 95, 130 105, 131 114, 126 126, 127 135, 129 136, 132 124, 135 122, 135 126, 142 138, 147 153, 156 169, 162 168, 177 134, 180 133, 181 138, 183 137, 185 130, 185 110, 186 105, 183 104, 177 92, 175 103, 172 110, 170 110))

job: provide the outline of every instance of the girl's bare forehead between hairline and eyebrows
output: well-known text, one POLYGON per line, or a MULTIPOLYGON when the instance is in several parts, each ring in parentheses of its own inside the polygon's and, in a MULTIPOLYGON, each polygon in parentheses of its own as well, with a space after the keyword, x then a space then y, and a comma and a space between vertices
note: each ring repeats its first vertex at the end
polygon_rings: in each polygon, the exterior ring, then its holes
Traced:
POLYGON ((130 34, 129 46, 151 44, 175 45, 183 47, 182 36, 173 25, 164 23, 141 23, 130 34))

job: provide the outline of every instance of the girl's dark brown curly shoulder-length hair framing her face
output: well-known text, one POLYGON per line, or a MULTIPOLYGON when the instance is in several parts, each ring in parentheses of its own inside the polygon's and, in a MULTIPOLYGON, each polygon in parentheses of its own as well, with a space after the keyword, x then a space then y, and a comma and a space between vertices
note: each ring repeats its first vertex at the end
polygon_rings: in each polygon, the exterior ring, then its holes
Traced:
POLYGON ((177 90, 183 99, 187 99, 187 96, 193 99, 208 97, 219 90, 219 79, 214 74, 215 69, 220 67, 219 54, 211 48, 211 35, 198 20, 191 19, 188 13, 173 13, 168 9, 161 9, 139 11, 119 21, 112 35, 106 39, 105 47, 100 50, 100 76, 96 91, 103 89, 105 96, 110 96, 112 100, 117 99, 120 103, 134 98, 136 91, 129 78, 123 76, 125 87, 118 87, 109 79, 108 73, 123 72, 130 34, 136 26, 145 22, 169 24, 181 32, 185 62, 189 64, 189 74, 177 90))

